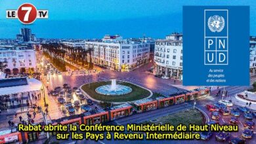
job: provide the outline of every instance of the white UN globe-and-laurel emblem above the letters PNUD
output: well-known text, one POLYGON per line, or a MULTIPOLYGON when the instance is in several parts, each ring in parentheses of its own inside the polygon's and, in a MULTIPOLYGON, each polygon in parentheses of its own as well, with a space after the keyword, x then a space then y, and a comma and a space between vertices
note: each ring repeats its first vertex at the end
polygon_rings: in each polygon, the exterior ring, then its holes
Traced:
POLYGON ((208 19, 208 27, 211 32, 221 32, 225 26, 225 20, 222 16, 210 16, 208 19))

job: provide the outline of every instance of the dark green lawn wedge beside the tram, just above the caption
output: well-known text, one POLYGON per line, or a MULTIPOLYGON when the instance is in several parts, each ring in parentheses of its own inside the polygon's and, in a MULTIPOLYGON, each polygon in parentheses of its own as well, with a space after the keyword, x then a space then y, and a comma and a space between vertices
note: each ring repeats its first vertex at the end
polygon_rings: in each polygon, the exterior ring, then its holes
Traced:
MULTIPOLYGON (((171 124, 173 126, 178 126, 179 124, 185 124, 186 126, 188 126, 188 124, 203 124, 203 115, 196 109, 188 109, 186 111, 180 111, 178 113, 169 114, 155 119, 158 120, 154 122, 154 124, 171 124)), ((142 123, 152 124, 153 122, 148 120, 142 123)))

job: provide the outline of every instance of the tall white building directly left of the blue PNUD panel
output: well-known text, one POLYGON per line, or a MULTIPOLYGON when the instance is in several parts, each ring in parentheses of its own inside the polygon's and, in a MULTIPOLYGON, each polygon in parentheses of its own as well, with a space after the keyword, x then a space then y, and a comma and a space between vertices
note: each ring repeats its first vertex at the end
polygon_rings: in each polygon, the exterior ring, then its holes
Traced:
POLYGON ((173 33, 157 40, 154 50, 156 74, 182 79, 182 34, 173 33))

